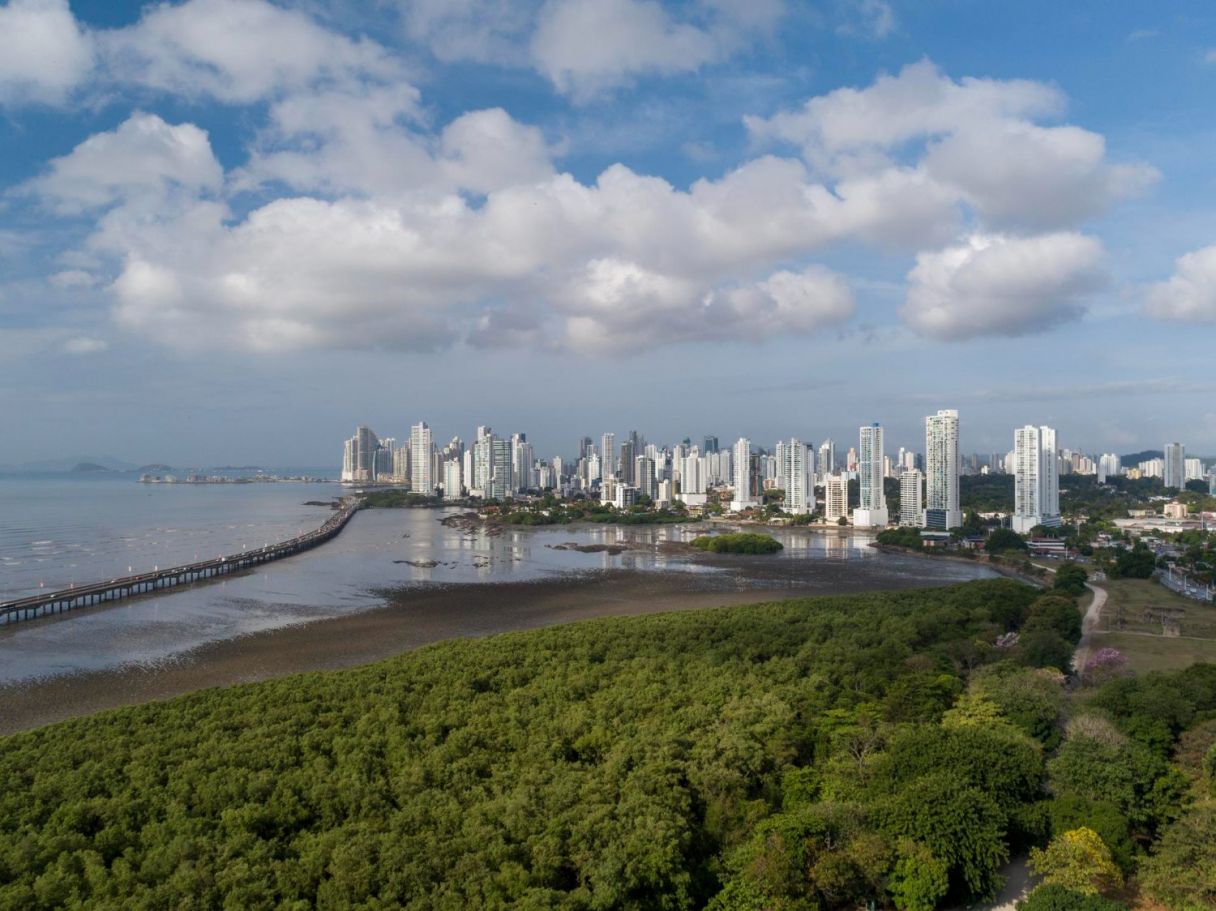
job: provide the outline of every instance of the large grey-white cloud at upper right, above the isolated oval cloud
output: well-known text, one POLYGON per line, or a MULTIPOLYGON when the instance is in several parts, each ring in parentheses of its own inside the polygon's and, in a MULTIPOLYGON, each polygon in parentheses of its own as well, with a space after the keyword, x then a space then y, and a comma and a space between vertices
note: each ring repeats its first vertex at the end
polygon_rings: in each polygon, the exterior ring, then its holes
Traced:
POLYGON ((1108 163, 1096 133, 1036 123, 1064 107, 1064 96, 1042 83, 953 80, 922 61, 865 89, 837 89, 745 123, 758 142, 796 145, 824 175, 903 163, 984 225, 1034 231, 1070 227, 1156 179, 1144 164, 1108 163))

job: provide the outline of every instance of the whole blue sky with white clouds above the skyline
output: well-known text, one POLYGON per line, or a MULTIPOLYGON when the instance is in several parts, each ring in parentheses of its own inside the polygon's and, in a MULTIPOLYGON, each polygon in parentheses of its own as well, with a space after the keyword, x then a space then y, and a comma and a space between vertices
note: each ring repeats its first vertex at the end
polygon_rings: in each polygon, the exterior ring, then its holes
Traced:
POLYGON ((1216 455, 1209 0, 0 0, 0 463, 1216 455))

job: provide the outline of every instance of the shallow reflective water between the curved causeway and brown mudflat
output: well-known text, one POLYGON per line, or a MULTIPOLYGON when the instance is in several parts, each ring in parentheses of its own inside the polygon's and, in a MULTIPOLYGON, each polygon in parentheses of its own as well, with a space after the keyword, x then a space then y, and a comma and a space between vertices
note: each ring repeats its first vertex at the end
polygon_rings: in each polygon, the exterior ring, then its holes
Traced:
POLYGON ((441 522, 456 512, 368 510, 325 546, 255 573, 5 628, 0 684, 171 662, 208 642, 378 607, 388 589, 530 581, 613 569, 687 573, 689 590, 699 591, 838 591, 991 574, 981 567, 880 553, 867 546, 868 536, 848 533, 770 529, 784 550, 756 559, 682 547, 705 533, 700 525, 490 529, 450 528, 441 522))

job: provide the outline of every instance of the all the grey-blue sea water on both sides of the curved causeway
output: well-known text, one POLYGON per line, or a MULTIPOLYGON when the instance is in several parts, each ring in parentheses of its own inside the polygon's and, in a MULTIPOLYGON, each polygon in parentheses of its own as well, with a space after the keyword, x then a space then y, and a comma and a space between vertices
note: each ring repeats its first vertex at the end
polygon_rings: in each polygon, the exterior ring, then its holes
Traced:
MULTIPOLYGON (((0 598, 260 547, 314 528, 338 484, 145 485, 119 478, 0 478, 0 598)), ((891 584, 991 575, 978 566, 880 553, 867 536, 772 533, 756 561, 671 552, 696 527, 449 528, 458 510, 368 510, 333 541, 213 584, 0 628, 0 685, 124 664, 173 662, 209 642, 384 603, 385 589, 559 579, 601 569, 697 574, 698 589, 834 590, 841 573, 891 584), (619 545, 585 553, 570 545, 619 545), (817 580, 821 580, 817 583, 817 580)), ((883 587, 874 581, 872 587, 883 587)))

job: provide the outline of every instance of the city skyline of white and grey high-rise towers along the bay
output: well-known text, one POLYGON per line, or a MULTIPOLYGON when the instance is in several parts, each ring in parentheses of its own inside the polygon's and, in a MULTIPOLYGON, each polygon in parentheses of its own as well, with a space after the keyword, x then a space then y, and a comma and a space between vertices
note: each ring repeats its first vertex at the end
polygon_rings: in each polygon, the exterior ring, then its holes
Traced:
POLYGON ((1105 484, 1114 476, 1128 479, 1160 478, 1162 489, 1182 490, 1197 480, 1216 490, 1216 462, 1188 457, 1186 445, 1171 442, 1161 456, 1122 463, 1118 454, 1085 454, 1060 448, 1055 428, 1026 424, 1013 429, 1007 452, 964 457, 959 412, 941 409, 924 417, 922 454, 900 448, 886 451, 879 422, 858 428, 858 445, 837 459, 835 443, 795 437, 778 439, 770 450, 747 437, 721 448, 706 434, 702 450, 692 438, 653 443, 636 429, 617 445, 614 432, 603 433, 598 450, 591 437, 580 437, 578 455, 568 459, 537 456, 523 432, 510 438, 479 424, 472 446, 460 437, 440 449, 430 443, 426 422, 411 427, 410 443, 400 448, 392 437, 378 438, 360 426, 343 448, 342 482, 355 487, 402 487, 445 501, 503 500, 553 493, 561 497, 593 499, 626 510, 638 504, 669 508, 726 511, 750 514, 767 511, 769 494, 779 491, 776 508, 790 517, 816 513, 828 524, 888 528, 891 524, 945 534, 963 525, 962 477, 1007 474, 1013 478, 1013 505, 1006 514, 1009 528, 1032 534, 1062 524, 1060 476, 1091 476, 1105 484), (424 434, 424 435, 423 435, 424 434), (424 440, 424 443, 422 442, 424 440), (816 451, 818 463, 816 463, 816 451), (421 482, 420 482, 421 479, 421 482), (899 508, 888 510, 886 488, 899 491, 899 508), (851 484, 857 485, 856 505, 851 484), (818 510, 817 489, 823 490, 818 510), (727 494, 730 495, 727 497, 727 494))

